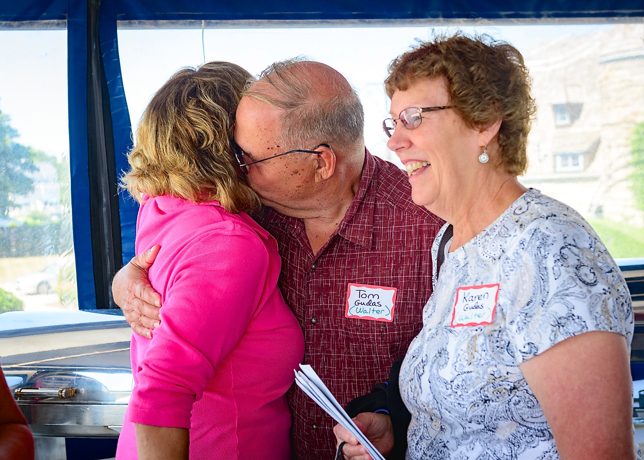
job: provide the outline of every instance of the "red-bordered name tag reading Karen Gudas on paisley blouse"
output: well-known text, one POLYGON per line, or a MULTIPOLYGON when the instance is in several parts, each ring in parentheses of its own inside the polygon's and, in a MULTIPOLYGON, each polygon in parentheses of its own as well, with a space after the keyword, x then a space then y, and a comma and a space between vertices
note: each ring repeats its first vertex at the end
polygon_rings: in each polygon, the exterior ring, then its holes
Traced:
POLYGON ((451 314, 451 327, 491 324, 497 310, 498 283, 459 287, 451 314))

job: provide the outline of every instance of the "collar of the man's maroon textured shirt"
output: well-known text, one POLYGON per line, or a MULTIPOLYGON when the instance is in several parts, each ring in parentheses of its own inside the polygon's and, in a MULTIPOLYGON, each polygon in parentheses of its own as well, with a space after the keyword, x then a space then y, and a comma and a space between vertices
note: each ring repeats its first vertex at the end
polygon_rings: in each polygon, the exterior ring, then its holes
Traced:
MULTIPOLYGON (((331 240, 336 235, 349 240, 352 243, 359 244, 365 249, 371 249, 373 238, 373 223, 374 223, 374 203, 375 193, 370 187, 374 171, 377 168, 374 157, 365 148, 365 163, 363 165, 362 177, 360 183, 355 191, 354 199, 352 200, 349 209, 346 210, 345 216, 338 225, 336 231, 333 233, 328 242, 321 247, 317 255, 322 254, 331 240)), ((275 209, 267 209, 267 221, 272 223, 284 223, 290 227, 290 233, 301 240, 303 247, 308 247, 308 252, 312 254, 310 245, 308 244, 307 233, 304 228, 304 221, 296 217, 285 216, 275 209)))

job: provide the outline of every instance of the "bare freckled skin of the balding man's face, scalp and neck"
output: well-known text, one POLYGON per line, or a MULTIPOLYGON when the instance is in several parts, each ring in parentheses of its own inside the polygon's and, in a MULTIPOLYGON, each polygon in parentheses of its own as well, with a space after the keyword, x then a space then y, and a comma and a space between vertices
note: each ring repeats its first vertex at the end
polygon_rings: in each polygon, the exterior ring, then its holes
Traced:
MULTIPOLYGON (((297 62, 294 73, 310 79, 310 100, 323 103, 336 97, 350 97, 351 86, 339 72, 321 62, 297 62)), ((255 94, 275 94, 275 88, 260 79, 251 90, 255 94)), ((248 167, 249 185, 260 200, 279 213, 304 221, 308 242, 317 253, 336 231, 354 200, 365 162, 362 137, 348 145, 334 145, 337 139, 316 139, 332 148, 299 145, 289 139, 279 142, 283 112, 255 97, 243 97, 238 106, 235 140, 248 153, 246 162, 269 158, 248 167), (318 153, 292 153, 270 158, 294 149, 315 149, 318 153), (335 149, 335 150, 334 150, 335 149)))

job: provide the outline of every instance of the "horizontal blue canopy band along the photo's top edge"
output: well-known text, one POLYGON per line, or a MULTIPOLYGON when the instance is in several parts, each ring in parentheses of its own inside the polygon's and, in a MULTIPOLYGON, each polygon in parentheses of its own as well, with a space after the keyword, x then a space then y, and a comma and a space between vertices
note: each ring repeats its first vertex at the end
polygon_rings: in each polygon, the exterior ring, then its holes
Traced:
MULTIPOLYGON (((119 21, 302 19, 516 19, 545 17, 642 17, 641 0, 113 0, 119 21)), ((0 2, 0 21, 66 19, 75 0, 0 2)))

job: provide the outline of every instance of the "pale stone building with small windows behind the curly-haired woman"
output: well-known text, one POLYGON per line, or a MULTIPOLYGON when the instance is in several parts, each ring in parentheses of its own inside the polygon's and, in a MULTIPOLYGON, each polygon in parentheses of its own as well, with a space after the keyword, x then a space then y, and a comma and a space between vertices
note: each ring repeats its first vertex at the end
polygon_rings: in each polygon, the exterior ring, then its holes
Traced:
POLYGON ((537 113, 519 180, 587 218, 642 227, 630 190, 630 140, 644 122, 644 24, 567 36, 525 55, 537 113))

